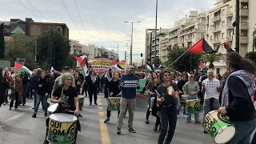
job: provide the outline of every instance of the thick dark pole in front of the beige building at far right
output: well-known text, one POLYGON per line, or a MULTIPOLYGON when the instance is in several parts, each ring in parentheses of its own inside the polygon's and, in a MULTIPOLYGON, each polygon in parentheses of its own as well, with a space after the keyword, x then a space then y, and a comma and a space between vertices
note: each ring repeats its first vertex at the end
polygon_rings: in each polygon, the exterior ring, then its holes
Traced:
POLYGON ((235 51, 238 52, 240 51, 240 2, 239 0, 236 0, 236 29, 235 29, 235 51))

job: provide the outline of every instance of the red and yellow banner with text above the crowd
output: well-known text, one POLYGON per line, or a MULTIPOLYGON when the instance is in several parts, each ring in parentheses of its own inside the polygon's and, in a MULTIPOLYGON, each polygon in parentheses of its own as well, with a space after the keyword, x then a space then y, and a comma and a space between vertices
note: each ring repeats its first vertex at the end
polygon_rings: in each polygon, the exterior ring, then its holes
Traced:
MULTIPOLYGON (((90 66, 92 66, 94 72, 105 72, 106 70, 109 70, 110 68, 112 70, 116 70, 114 66, 112 66, 112 60, 107 58, 94 58, 90 59, 89 61, 90 66)), ((122 70, 120 71, 122 74, 126 72, 126 60, 119 61, 119 66, 122 67, 122 70)))

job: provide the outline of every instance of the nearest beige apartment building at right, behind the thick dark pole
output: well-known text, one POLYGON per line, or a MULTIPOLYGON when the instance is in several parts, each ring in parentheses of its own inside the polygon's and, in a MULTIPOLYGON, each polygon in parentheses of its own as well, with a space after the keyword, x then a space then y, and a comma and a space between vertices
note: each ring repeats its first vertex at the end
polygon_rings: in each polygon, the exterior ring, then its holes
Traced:
MULTIPOLYGON (((215 7, 209 10, 206 14, 206 41, 210 46, 216 47, 219 44, 232 40, 232 47, 235 46, 235 21, 236 2, 235 0, 216 0, 215 7)), ((256 28, 256 18, 253 17, 256 10, 255 0, 240 1, 240 54, 245 56, 249 51, 252 51, 253 31, 256 28)), ((226 54, 226 50, 221 47, 219 53, 226 54)), ((226 71, 226 63, 214 62, 215 74, 223 74, 226 71)))

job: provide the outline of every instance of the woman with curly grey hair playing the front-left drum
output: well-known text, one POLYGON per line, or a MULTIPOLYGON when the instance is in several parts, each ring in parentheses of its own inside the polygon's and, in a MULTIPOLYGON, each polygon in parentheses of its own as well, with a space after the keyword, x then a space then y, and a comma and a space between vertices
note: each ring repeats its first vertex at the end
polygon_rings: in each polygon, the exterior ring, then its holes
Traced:
MULTIPOLYGON (((50 99, 50 102, 58 103, 57 110, 54 113, 67 113, 74 111, 74 115, 78 116, 78 92, 74 86, 74 76, 70 73, 62 74, 58 87, 54 90, 54 93, 50 99)), ((72 113, 73 114, 73 113, 72 113)), ((46 119, 48 125, 49 118, 46 119)), ((81 130, 79 121, 77 122, 77 130, 75 131, 75 140, 77 138, 78 130, 81 130)), ((48 128, 48 126, 47 126, 48 128)), ((47 131, 47 130, 46 130, 47 131)), ((46 134, 47 135, 47 134, 46 134)), ((49 143, 45 140, 45 144, 49 143)))

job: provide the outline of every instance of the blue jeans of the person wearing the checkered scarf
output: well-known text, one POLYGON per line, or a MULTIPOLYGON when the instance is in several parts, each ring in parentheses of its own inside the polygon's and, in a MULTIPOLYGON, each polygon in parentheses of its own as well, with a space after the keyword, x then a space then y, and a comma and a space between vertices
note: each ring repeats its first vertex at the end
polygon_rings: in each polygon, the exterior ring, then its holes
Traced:
POLYGON ((248 122, 231 122, 234 124, 237 133, 234 135, 234 138, 229 142, 229 144, 249 144, 250 136, 256 127, 255 119, 248 122))

